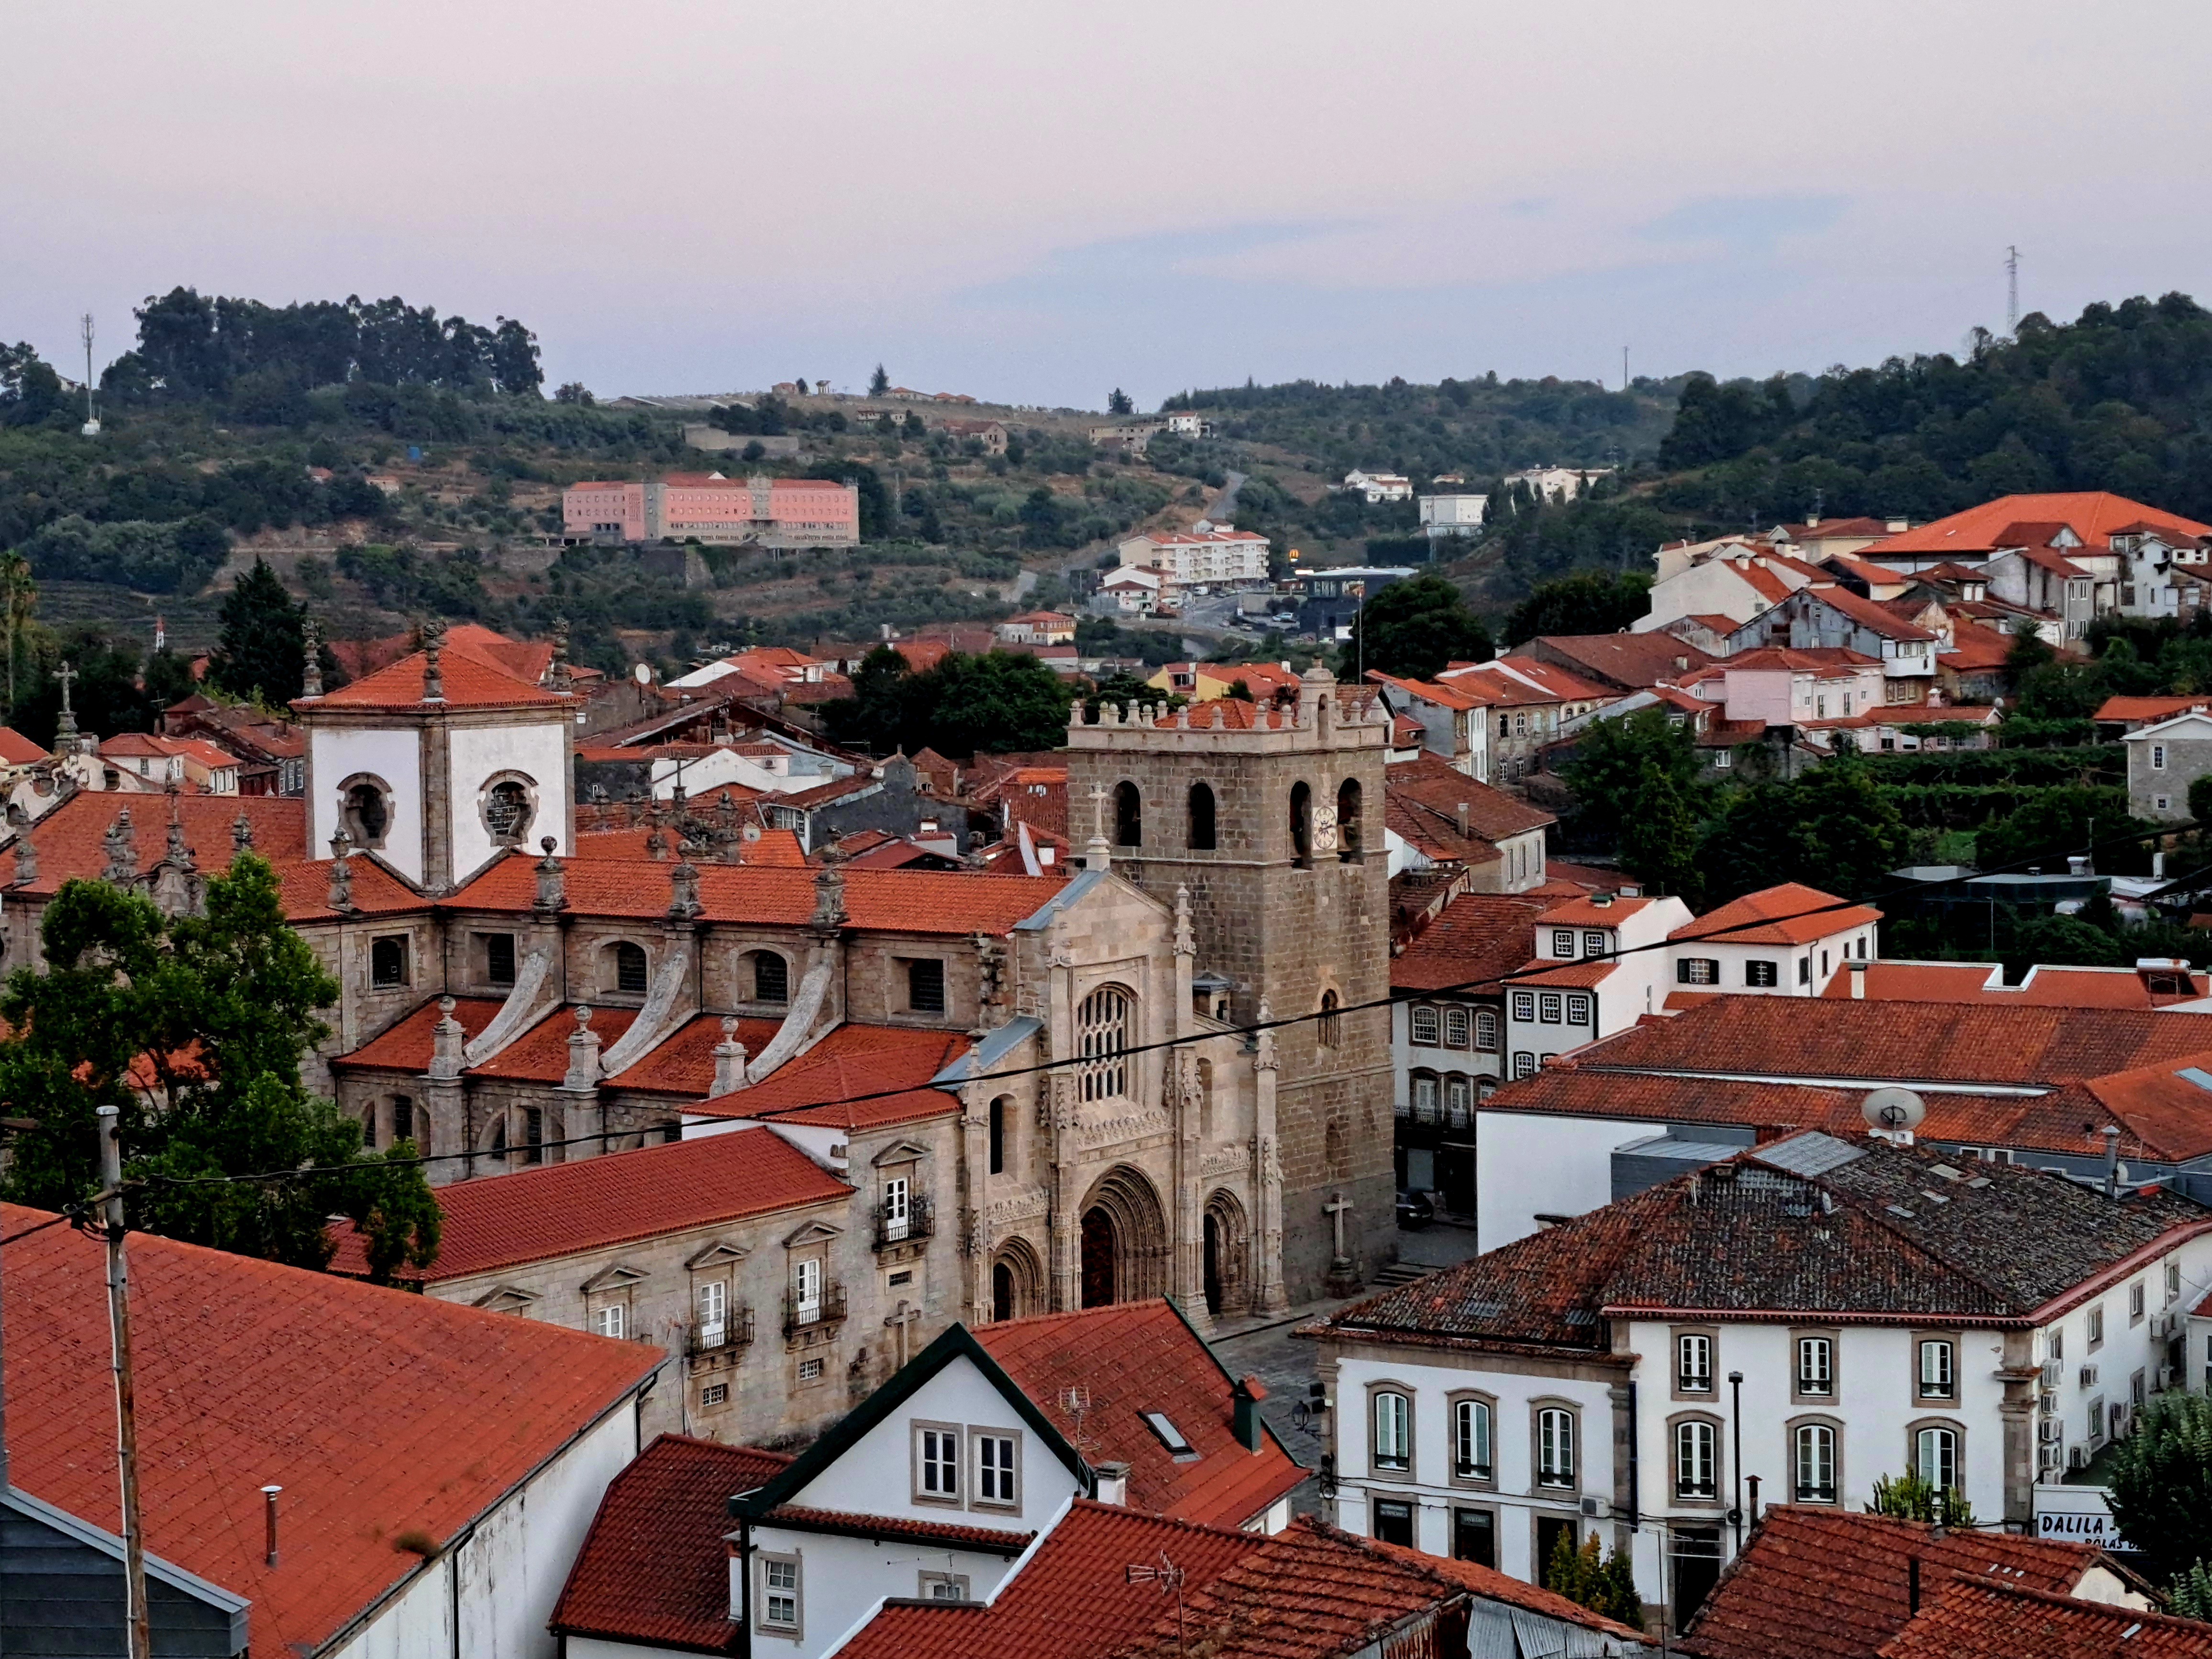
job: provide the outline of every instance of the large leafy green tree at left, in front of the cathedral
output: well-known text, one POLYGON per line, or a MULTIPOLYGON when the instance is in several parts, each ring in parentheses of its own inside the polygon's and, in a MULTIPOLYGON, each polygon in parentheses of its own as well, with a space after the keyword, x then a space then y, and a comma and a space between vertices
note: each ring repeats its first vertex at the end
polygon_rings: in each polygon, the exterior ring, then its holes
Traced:
POLYGON ((338 998, 285 927, 254 854, 208 880, 204 916, 69 880, 40 922, 46 969, 0 998, 0 1097, 38 1119, 15 1139, 11 1199, 58 1208, 97 1190, 95 1108, 115 1106, 131 1221, 148 1232, 325 1267, 330 1217, 363 1232, 369 1272, 427 1265, 438 1206, 414 1144, 365 1152, 361 1126, 312 1097, 299 1066, 338 998), (283 1179, 226 1181, 274 1175, 283 1179))

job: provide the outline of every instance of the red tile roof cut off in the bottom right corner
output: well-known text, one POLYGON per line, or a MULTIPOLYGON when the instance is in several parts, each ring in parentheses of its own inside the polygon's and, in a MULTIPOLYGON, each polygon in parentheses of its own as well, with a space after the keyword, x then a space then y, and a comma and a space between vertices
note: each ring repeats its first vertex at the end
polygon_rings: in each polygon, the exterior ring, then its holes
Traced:
POLYGON ((1958 1577, 1880 1659, 2205 1659, 2212 1624, 1958 1577))

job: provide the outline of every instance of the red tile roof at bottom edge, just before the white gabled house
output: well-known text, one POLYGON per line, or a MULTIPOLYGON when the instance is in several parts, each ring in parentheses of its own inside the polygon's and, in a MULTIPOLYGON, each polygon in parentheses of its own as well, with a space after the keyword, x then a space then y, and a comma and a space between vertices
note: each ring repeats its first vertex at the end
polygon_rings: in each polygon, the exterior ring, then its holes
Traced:
POLYGON ((1130 1564, 1161 1555, 1183 1571, 1183 1595, 1203 1590, 1259 1540, 1077 1500, 1037 1553, 989 1604, 894 1604, 836 1659, 1079 1659, 1108 1655, 1152 1630, 1157 1584, 1130 1584, 1130 1564))

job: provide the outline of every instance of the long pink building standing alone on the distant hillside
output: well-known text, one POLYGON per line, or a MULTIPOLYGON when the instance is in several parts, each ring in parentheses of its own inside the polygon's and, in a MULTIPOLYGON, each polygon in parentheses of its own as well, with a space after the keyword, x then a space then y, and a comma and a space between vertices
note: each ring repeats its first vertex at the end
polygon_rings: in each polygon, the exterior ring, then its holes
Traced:
POLYGON ((721 473, 668 473, 653 484, 591 480, 562 491, 562 529, 622 542, 852 546, 860 540, 860 489, 827 478, 721 473))

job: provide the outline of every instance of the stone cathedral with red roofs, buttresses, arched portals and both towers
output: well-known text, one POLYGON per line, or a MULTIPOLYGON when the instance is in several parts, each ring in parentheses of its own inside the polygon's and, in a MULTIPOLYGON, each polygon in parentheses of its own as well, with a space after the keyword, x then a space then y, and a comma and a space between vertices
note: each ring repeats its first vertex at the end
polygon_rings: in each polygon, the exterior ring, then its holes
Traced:
MULTIPOLYGON (((294 703, 303 799, 82 794, 0 852, 9 962, 71 876, 190 907, 250 847, 341 984, 310 1082, 458 1188, 765 1126, 925 1159, 942 1318, 1354 1287, 1391 1225, 1389 719, 1130 708, 1066 734, 1082 867, 845 869, 728 801, 575 801, 580 697, 480 648, 294 703), (159 856, 155 852, 159 849, 159 856), (900 1150, 905 1148, 905 1150, 900 1150)), ((863 1179, 865 1177, 865 1179, 863 1179)), ((907 1179, 907 1177, 900 1177, 907 1179)), ((909 1203, 914 1188, 900 1188, 909 1203)))

